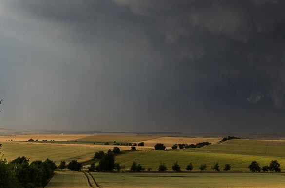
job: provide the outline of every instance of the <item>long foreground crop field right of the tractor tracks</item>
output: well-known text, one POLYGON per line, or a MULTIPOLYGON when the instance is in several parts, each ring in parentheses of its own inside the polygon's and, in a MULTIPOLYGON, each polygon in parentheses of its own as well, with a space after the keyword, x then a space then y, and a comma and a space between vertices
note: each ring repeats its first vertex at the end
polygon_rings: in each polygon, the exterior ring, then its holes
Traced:
POLYGON ((284 187, 276 173, 91 173, 101 188, 284 187))

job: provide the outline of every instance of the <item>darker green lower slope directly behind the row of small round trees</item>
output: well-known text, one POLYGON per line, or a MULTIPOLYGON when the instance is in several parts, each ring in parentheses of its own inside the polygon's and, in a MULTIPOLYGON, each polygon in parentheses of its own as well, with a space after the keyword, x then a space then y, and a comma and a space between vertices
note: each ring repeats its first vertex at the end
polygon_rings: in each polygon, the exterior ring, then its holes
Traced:
POLYGON ((207 164, 207 171, 212 171, 211 166, 219 163, 220 169, 226 163, 232 166, 231 171, 248 171, 248 165, 256 160, 261 166, 268 165, 272 160, 278 160, 281 169, 285 169, 285 158, 274 156, 258 156, 258 155, 241 155, 228 153, 209 153, 209 152, 187 152, 187 151, 124 151, 123 154, 116 156, 116 162, 125 165, 126 169, 130 169, 133 161, 140 163, 146 169, 152 168, 157 171, 160 162, 165 163, 169 171, 174 162, 178 161, 181 170, 185 170, 186 166, 192 162, 193 171, 199 171, 200 164, 207 164))

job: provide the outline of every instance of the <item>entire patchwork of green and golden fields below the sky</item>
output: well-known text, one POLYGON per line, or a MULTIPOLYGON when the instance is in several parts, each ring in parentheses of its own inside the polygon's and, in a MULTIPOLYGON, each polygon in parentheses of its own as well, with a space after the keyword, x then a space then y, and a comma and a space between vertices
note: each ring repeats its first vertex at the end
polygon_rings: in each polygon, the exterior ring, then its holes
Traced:
MULTIPOLYGON (((131 146, 118 146, 121 153, 116 155, 115 161, 124 165, 124 171, 130 170, 135 161, 145 169, 152 168, 158 171, 160 163, 165 163, 168 172, 171 172, 174 162, 178 162, 182 171, 191 162, 194 166, 192 172, 196 173, 97 173, 92 175, 101 187, 173 187, 173 182, 179 182, 174 187, 251 187, 285 185, 283 174, 270 173, 236 173, 249 172, 248 165, 256 160, 260 166, 268 165, 272 160, 280 163, 281 170, 285 170, 285 141, 272 140, 243 140, 234 139, 223 143, 217 143, 220 138, 183 138, 183 137, 152 137, 152 136, 119 136, 119 135, 21 135, 9 137, 13 141, 3 141, 7 137, 0 137, 3 144, 1 148, 4 157, 10 161, 18 156, 26 156, 33 160, 45 160, 49 158, 58 165, 61 160, 67 163, 78 160, 84 164, 90 164, 96 151, 106 152, 113 149, 114 145, 90 144, 89 142, 138 143, 145 142, 145 147, 136 147, 136 151, 130 151, 131 146), (28 138, 58 140, 57 142, 23 142, 28 138), (21 139, 21 140, 20 140, 21 139), (69 142, 67 141, 69 140, 69 142), (70 143, 75 142, 76 143, 70 143), (212 145, 202 148, 176 149, 167 151, 153 150, 156 143, 172 146, 177 143, 212 142, 212 145), (89 144, 81 144, 81 143, 89 144), (78 143, 78 144, 77 144, 78 143), (80 143, 80 144, 79 144, 80 143), (217 144, 214 144, 217 143, 217 144), (197 173, 201 164, 206 163, 207 172, 212 172, 211 167, 219 163, 222 170, 226 163, 231 165, 232 173, 197 173), (135 182, 135 184, 133 184, 135 182), (197 185, 197 186, 196 186, 197 185)), ((98 160, 95 160, 98 163, 98 160)), ((48 187, 84 187, 86 177, 82 172, 56 172, 48 187), (73 179, 71 181, 71 179, 73 179), (84 184, 84 185, 83 185, 84 184), (79 186, 80 185, 80 186, 79 186)), ((88 181, 87 181, 88 183, 88 181)))

